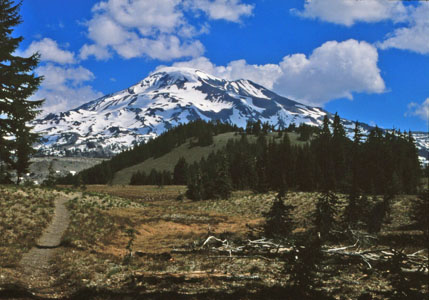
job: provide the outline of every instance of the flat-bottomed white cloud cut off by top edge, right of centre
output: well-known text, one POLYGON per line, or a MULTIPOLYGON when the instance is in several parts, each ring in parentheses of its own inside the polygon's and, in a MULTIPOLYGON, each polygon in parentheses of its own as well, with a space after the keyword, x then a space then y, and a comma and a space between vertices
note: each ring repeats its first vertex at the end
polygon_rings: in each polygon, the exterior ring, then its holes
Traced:
POLYGON ((293 13, 322 21, 351 26, 356 22, 404 21, 407 8, 401 1, 391 0, 312 0, 304 9, 293 13))

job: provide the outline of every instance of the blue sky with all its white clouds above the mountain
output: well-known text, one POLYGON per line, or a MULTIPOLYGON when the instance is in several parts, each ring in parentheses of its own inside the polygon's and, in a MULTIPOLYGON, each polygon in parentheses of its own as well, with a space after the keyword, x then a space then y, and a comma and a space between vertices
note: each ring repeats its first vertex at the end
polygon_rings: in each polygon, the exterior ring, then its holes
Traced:
POLYGON ((64 111, 162 65, 246 78, 384 128, 428 131, 429 2, 24 0, 18 53, 64 111))

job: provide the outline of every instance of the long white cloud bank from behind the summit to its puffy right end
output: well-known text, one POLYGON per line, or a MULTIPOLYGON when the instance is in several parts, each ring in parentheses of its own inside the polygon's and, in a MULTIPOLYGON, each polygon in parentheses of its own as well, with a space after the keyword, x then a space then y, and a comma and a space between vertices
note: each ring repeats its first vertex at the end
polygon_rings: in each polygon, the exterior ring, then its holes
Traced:
POLYGON ((377 49, 356 40, 329 41, 306 56, 285 56, 277 64, 254 65, 237 60, 216 66, 205 57, 174 66, 201 69, 228 80, 250 79, 280 95, 322 106, 338 98, 353 99, 353 93, 382 93, 385 83, 377 66, 377 49))

